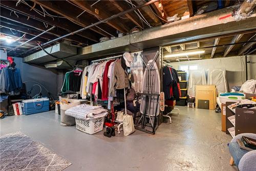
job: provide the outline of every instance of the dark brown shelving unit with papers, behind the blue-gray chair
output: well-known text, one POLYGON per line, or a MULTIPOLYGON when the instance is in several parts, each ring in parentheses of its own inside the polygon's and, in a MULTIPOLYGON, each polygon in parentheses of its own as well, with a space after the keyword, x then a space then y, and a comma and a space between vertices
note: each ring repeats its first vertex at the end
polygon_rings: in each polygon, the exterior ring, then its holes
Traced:
POLYGON ((227 106, 234 102, 226 102, 226 134, 232 137, 242 133, 256 134, 256 109, 237 108, 231 111, 227 106))

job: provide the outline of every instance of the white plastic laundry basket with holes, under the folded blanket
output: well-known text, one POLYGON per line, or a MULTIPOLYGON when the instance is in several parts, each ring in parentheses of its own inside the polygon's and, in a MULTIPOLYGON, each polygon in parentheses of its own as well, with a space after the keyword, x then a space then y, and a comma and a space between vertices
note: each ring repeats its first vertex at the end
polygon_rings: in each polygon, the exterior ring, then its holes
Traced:
POLYGON ((76 129, 87 134, 95 134, 103 130, 104 118, 104 116, 89 120, 76 118, 76 129))

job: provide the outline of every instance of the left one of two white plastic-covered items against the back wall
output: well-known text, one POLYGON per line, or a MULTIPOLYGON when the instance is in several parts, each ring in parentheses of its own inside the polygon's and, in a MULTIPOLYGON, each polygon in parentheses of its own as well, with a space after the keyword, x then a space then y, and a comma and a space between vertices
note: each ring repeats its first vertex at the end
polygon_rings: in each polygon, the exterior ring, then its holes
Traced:
POLYGON ((190 70, 188 77, 187 95, 195 97, 196 86, 206 84, 207 82, 204 70, 190 70))

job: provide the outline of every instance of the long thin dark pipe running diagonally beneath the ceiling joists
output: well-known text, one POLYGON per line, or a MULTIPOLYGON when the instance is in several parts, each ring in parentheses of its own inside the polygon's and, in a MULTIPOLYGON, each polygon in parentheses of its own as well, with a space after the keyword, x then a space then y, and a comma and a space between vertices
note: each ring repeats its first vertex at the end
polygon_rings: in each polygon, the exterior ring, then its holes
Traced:
MULTIPOLYGON (((139 9, 139 8, 148 6, 148 5, 153 4, 153 3, 155 3, 155 2, 158 2, 158 1, 159 1, 159 0, 151 0, 151 1, 147 2, 147 3, 145 3, 145 4, 142 4, 142 5, 136 6, 136 7, 134 7, 134 8, 131 8, 131 9, 129 9, 129 10, 120 12, 120 13, 115 14, 115 15, 112 15, 112 16, 110 16, 110 17, 108 17, 108 18, 105 18, 105 19, 100 20, 99 22, 96 22, 96 23, 94 23, 94 24, 91 24, 90 26, 81 28, 81 29, 76 30, 76 31, 74 31, 74 32, 71 32, 71 33, 69 33, 69 34, 66 34, 66 35, 60 36, 60 37, 58 37, 58 38, 55 38, 55 39, 53 39, 53 40, 51 40, 51 41, 45 42, 44 44, 41 45, 41 47, 44 47, 44 46, 49 45, 49 44, 52 44, 52 43, 55 42, 55 41, 58 41, 58 40, 60 40, 60 39, 62 39, 62 38, 65 38, 65 37, 71 36, 71 35, 73 35, 73 34, 79 33, 79 32, 81 32, 81 31, 90 29, 90 28, 92 28, 92 27, 94 27, 94 26, 97 26, 97 25, 99 25, 99 24, 101 24, 101 23, 108 22, 108 21, 111 20, 111 19, 117 18, 117 17, 122 16, 122 15, 124 15, 124 14, 126 14, 126 13, 129 13, 129 12, 133 12, 133 11, 139 9)), ((32 48, 32 49, 30 49, 30 50, 28 50, 28 51, 25 51, 25 52, 21 53, 20 55, 22 55, 22 54, 24 54, 24 53, 28 53, 28 52, 30 52, 30 51, 33 51, 33 50, 35 50, 35 49, 37 49, 37 48, 40 48, 40 47, 39 47, 39 46, 36 46, 36 47, 34 47, 34 48, 32 48)))

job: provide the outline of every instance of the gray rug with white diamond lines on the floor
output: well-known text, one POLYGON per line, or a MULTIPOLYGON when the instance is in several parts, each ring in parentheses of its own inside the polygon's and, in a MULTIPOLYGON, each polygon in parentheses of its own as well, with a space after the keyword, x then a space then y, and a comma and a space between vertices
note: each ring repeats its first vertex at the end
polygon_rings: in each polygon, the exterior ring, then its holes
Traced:
POLYGON ((69 161, 23 133, 0 137, 0 170, 57 171, 69 165, 69 161))

